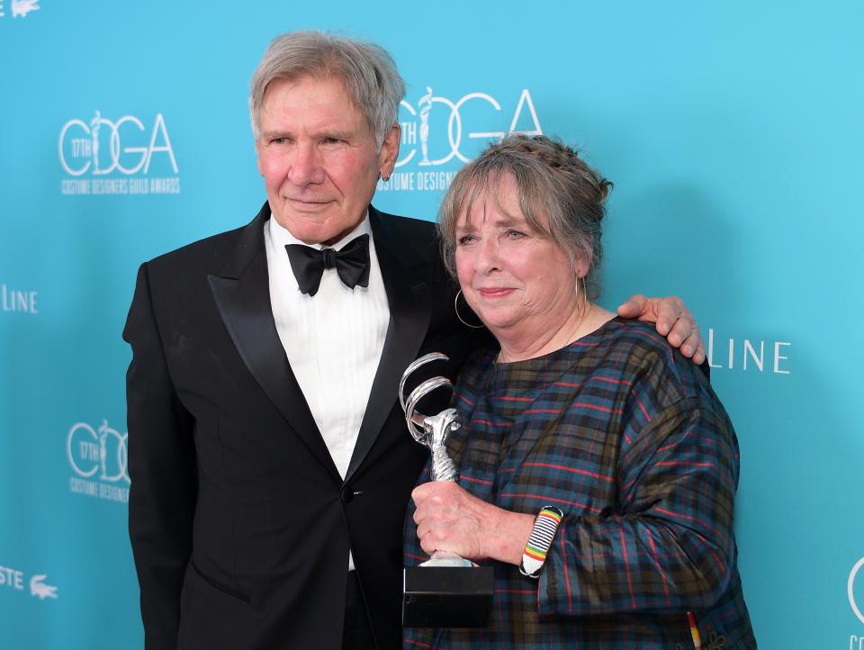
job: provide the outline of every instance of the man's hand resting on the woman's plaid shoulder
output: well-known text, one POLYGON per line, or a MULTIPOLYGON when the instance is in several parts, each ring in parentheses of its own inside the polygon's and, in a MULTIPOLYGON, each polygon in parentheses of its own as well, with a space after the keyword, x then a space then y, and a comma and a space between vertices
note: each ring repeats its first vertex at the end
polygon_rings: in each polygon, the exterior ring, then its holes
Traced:
POLYGON ((682 355, 692 358, 696 364, 705 361, 705 341, 699 334, 696 319, 680 298, 673 295, 646 298, 636 293, 618 307, 618 315, 655 323, 657 331, 666 337, 673 348, 680 348, 682 355))

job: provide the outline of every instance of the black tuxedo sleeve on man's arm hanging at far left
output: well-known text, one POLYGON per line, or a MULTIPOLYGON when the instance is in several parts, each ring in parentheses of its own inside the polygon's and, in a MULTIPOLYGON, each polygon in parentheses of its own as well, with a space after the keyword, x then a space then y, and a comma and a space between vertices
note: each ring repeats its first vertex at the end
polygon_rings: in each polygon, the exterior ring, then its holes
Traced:
MULTIPOLYGON (((193 420, 175 392, 148 265, 139 269, 123 330, 132 348, 126 375, 129 532, 147 650, 176 648, 180 593, 192 551, 197 492, 193 420)), ((162 327, 166 327, 162 324, 162 327)))

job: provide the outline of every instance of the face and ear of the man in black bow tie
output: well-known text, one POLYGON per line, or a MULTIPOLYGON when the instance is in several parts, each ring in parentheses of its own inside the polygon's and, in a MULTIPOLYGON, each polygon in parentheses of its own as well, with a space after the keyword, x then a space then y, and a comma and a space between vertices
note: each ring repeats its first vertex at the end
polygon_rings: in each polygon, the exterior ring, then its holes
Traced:
POLYGON ((394 125, 376 152, 374 134, 338 78, 276 79, 259 118, 258 171, 273 217, 294 237, 335 243, 363 221, 378 175, 399 155, 394 125))

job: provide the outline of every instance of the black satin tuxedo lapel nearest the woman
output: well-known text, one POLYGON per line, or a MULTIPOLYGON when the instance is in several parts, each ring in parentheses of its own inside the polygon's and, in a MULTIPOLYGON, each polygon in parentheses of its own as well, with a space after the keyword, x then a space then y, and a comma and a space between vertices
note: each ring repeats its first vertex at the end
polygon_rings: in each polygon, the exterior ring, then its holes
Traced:
MULTIPOLYGON (((431 287, 428 263, 412 255, 410 242, 400 240, 378 211, 369 208, 375 253, 381 266, 390 306, 390 325, 378 372, 346 478, 355 473, 398 400, 399 381, 405 368, 417 358, 431 319, 431 287)), ((408 429, 405 435, 410 435, 408 429)))

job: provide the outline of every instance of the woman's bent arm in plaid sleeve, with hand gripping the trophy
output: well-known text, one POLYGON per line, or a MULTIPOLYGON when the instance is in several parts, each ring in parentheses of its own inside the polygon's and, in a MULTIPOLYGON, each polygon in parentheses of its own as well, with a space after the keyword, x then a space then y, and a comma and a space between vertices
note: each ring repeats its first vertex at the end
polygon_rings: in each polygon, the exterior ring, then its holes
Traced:
MULTIPOLYGON (((537 585, 541 615, 687 611, 724 593, 734 573, 737 444, 722 411, 692 402, 627 425, 617 511, 567 516, 563 506, 537 585)), ((424 483, 412 497, 429 555, 521 562, 534 515, 503 510, 456 483, 424 483)))

